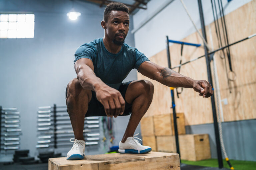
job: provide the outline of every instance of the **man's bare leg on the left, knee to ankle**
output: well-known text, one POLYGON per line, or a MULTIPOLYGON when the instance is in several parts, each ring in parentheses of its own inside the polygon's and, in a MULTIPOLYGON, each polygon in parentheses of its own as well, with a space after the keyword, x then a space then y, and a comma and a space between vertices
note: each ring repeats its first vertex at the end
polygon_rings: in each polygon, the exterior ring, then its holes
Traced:
POLYGON ((66 104, 75 139, 84 140, 84 117, 92 98, 91 90, 85 90, 77 78, 68 83, 66 104))

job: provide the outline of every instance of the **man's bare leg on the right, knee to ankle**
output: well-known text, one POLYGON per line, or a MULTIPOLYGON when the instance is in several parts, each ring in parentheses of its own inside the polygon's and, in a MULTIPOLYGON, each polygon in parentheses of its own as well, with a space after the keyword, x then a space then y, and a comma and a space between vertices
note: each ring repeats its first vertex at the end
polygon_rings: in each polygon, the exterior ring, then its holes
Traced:
POLYGON ((154 94, 154 86, 147 80, 132 81, 125 94, 127 103, 132 103, 132 113, 125 130, 122 143, 127 137, 133 136, 134 132, 146 111, 148 110, 154 94))

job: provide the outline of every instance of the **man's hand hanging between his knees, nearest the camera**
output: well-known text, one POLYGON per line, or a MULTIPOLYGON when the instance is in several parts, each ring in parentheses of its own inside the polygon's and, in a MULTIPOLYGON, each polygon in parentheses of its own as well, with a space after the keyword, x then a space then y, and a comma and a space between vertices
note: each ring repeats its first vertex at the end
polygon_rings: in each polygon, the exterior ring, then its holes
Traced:
POLYGON ((125 100, 121 93, 109 86, 100 87, 95 91, 96 98, 104 106, 108 117, 117 117, 124 113, 125 100))

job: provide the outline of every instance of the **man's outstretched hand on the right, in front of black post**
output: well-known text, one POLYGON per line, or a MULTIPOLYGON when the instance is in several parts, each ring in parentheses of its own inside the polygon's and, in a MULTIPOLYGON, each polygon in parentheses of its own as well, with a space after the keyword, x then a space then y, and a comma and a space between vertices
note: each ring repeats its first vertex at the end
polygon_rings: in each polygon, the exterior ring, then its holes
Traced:
POLYGON ((194 81, 193 89, 203 97, 210 97, 213 94, 212 86, 205 80, 194 81))

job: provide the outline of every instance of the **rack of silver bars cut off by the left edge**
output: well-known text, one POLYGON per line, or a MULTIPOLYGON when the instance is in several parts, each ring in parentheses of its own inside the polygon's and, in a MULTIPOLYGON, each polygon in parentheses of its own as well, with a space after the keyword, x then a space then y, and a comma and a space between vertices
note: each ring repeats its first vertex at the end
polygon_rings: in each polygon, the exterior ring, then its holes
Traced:
POLYGON ((13 152, 20 145, 20 112, 17 108, 0 107, 1 152, 13 152))

